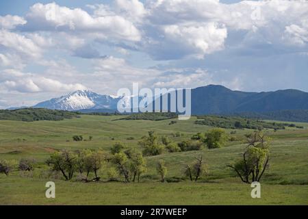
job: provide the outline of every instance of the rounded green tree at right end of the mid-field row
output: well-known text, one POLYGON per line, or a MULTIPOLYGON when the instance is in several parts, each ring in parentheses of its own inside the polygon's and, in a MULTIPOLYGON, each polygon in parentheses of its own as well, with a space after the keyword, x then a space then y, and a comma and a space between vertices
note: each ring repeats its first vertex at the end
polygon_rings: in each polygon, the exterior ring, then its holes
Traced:
POLYGON ((216 149, 224 146, 228 137, 223 129, 211 129, 205 133, 203 142, 207 145, 208 149, 216 149))

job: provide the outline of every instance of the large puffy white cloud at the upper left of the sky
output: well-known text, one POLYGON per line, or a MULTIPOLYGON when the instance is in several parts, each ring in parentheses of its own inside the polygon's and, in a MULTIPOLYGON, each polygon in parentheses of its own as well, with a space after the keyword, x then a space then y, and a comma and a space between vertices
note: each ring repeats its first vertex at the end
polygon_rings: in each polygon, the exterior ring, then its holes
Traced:
POLYGON ((36 3, 26 16, 25 30, 68 31, 97 34, 101 38, 140 40, 140 32, 127 19, 118 15, 91 16, 80 8, 70 9, 56 3, 36 3))

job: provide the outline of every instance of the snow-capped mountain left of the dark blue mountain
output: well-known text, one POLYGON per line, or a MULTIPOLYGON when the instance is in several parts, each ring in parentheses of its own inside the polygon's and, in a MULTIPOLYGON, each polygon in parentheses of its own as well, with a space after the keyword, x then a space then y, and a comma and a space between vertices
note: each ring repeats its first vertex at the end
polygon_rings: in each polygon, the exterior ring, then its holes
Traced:
POLYGON ((35 108, 51 110, 85 110, 85 109, 116 109, 118 96, 101 95, 90 90, 77 90, 65 96, 54 98, 34 105, 35 108))

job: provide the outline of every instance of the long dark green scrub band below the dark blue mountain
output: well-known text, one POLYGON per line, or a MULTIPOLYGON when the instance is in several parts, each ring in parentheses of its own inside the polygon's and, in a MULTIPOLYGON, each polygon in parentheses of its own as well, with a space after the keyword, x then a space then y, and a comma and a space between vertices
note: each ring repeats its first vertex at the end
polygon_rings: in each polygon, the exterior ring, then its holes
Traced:
POLYGON ((285 129, 290 124, 269 123, 261 120, 231 117, 231 116, 198 116, 195 123, 224 129, 285 129))

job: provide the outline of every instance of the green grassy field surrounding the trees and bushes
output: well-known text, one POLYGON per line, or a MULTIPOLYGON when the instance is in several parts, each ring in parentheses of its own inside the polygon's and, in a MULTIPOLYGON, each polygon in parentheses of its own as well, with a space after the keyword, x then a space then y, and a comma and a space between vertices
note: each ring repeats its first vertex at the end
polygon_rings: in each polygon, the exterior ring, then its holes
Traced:
MULTIPOLYGON (((237 129, 239 141, 229 142, 220 149, 203 149, 181 153, 164 153, 146 157, 147 172, 141 183, 107 182, 104 168, 102 181, 83 183, 46 177, 44 161, 60 149, 109 150, 117 141, 138 146, 147 131, 169 136, 179 142, 194 133, 212 127, 197 125, 196 117, 190 120, 119 120, 123 116, 81 116, 60 121, 32 123, 0 120, 0 159, 33 157, 38 161, 31 175, 15 171, 8 177, 0 175, 0 204, 26 205, 308 205, 308 123, 295 123, 304 129, 287 127, 285 130, 265 132, 272 138, 270 168, 261 181, 261 198, 251 198, 251 187, 240 182, 227 168, 244 150, 245 133, 252 130, 237 129), (171 120, 177 123, 169 125, 171 120), (173 137, 174 133, 180 137, 173 137), (92 141, 73 142, 72 136, 93 137, 92 141), (133 140, 127 138, 133 137, 133 140), (209 172, 197 183, 183 178, 185 164, 203 155, 209 172), (155 163, 164 159, 168 167, 168 183, 159 183, 155 163), (44 196, 47 181, 54 181, 56 198, 44 196)), ((226 129, 227 133, 232 129, 226 129)))

